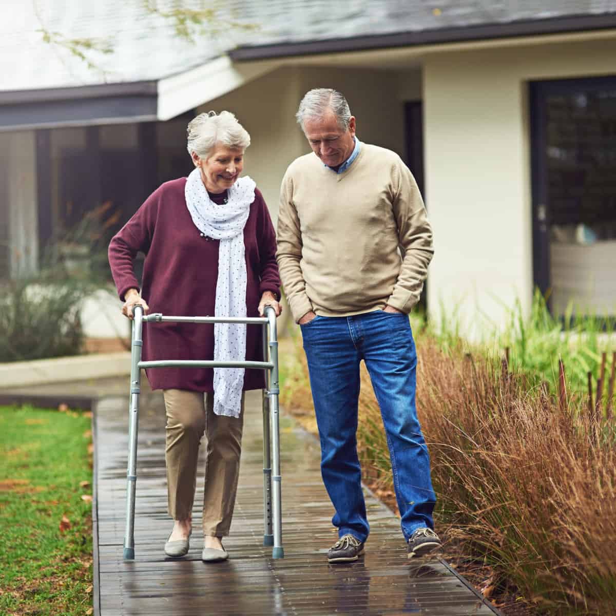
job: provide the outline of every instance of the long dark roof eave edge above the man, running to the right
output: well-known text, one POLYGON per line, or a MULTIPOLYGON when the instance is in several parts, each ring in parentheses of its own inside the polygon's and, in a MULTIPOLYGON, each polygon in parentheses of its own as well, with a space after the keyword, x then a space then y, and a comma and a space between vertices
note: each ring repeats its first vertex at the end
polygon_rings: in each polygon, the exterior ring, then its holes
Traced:
POLYGON ((238 47, 229 52, 229 57, 241 60, 265 60, 300 55, 332 54, 336 52, 368 51, 464 43, 487 39, 506 39, 519 36, 540 36, 580 31, 609 30, 616 28, 616 13, 601 15, 573 15, 541 20, 526 20, 509 23, 492 23, 477 26, 438 28, 393 34, 373 34, 342 39, 301 41, 238 47))

